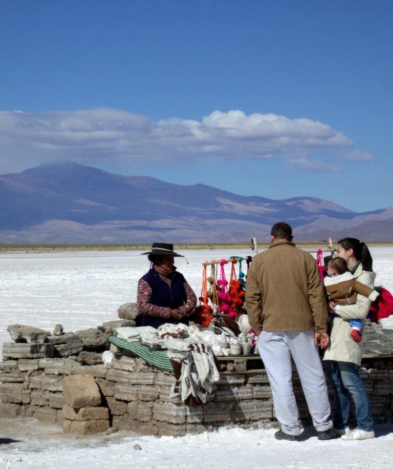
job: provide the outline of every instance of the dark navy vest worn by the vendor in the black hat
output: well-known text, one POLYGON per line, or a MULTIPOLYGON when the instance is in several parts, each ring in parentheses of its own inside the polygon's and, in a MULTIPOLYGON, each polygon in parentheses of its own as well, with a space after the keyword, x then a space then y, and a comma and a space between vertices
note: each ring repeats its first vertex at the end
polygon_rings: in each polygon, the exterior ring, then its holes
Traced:
MULTIPOLYGON (((174 272, 171 278, 170 287, 168 283, 160 278, 154 267, 152 267, 147 274, 142 277, 142 280, 149 284, 152 292, 150 302, 156 306, 162 306, 164 308, 174 310, 187 302, 187 295, 184 289, 184 277, 180 272, 174 272)), ((179 324, 179 322, 188 324, 188 319, 186 318, 178 321, 173 318, 164 319, 144 314, 141 316, 141 325, 151 325, 156 329, 167 322, 171 324, 179 324)))

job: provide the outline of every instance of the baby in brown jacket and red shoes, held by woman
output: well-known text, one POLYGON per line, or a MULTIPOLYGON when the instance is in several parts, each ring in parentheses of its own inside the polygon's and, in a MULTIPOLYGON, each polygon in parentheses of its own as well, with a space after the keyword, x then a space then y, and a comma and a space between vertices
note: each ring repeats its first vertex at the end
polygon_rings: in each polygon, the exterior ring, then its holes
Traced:
MULTIPOLYGON (((366 296, 371 301, 375 301, 379 293, 364 283, 356 280, 351 272, 348 271, 346 261, 341 257, 335 257, 328 263, 328 277, 323 279, 326 292, 329 295, 329 301, 336 304, 351 304, 356 302, 357 294, 366 296)), ((351 337, 360 342, 362 336, 360 330, 363 326, 362 319, 350 319, 352 327, 351 337)))

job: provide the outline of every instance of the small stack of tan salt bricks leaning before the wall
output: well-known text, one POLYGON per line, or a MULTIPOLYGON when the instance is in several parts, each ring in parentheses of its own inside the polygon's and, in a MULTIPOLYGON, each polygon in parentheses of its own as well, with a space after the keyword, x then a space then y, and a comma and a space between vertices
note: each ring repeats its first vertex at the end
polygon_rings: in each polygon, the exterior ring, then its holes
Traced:
POLYGON ((91 435, 109 429, 109 412, 101 406, 101 395, 93 376, 64 377, 63 430, 65 433, 91 435))

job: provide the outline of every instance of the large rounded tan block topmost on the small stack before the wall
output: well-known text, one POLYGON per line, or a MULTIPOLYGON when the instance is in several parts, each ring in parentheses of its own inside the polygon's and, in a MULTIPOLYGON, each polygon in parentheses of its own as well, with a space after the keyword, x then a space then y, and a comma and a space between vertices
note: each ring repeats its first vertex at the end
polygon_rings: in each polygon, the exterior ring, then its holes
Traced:
POLYGON ((101 404, 100 390, 91 375, 65 376, 63 394, 65 402, 73 409, 98 407, 101 404))

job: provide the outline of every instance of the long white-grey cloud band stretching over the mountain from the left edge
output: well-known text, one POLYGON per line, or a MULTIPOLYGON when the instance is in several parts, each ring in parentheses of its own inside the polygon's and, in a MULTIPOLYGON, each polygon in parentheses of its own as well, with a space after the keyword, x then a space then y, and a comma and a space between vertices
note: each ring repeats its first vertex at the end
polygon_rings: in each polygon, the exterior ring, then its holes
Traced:
POLYGON ((329 125, 307 118, 213 111, 201 121, 177 117, 156 121, 141 114, 98 108, 0 111, 0 145, 0 171, 4 172, 64 158, 82 163, 170 164, 191 158, 272 158, 277 154, 303 169, 337 171, 332 169, 337 167, 312 159, 320 150, 341 151, 354 144, 329 125))

